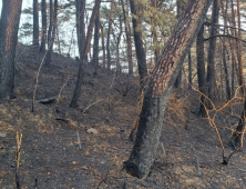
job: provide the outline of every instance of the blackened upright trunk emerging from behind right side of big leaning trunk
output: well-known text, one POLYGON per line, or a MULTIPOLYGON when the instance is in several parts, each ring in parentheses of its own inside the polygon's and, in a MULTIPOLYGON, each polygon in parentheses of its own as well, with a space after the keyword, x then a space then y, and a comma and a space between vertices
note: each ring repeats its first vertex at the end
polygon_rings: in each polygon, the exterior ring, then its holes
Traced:
POLYGON ((201 117, 206 117, 205 111, 205 94, 206 94, 206 77, 205 77, 205 57, 204 57, 204 24, 201 27, 196 39, 196 58, 197 58, 197 77, 198 77, 198 89, 199 96, 199 111, 201 117))

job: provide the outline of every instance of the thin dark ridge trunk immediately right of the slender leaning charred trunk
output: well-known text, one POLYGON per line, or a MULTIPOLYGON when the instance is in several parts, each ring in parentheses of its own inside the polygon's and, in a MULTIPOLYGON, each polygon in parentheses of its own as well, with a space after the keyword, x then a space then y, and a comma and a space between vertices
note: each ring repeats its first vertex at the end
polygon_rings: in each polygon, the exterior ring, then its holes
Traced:
POLYGON ((94 43, 93 43, 93 59, 92 64, 95 68, 95 74, 99 67, 99 27, 100 27, 100 12, 95 19, 95 28, 94 28, 94 43))

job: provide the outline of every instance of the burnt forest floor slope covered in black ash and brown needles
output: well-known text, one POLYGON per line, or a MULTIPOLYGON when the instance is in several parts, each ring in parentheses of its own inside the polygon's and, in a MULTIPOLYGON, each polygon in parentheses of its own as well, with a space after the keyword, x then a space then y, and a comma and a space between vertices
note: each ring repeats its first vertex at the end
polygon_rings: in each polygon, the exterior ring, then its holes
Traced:
MULTIPOLYGON (((198 94, 173 90, 165 113, 156 161, 146 179, 127 175, 133 142, 129 140, 137 116, 139 80, 100 68, 85 71, 79 106, 69 108, 78 63, 53 54, 42 68, 35 100, 33 90, 41 57, 19 44, 14 82, 16 99, 0 101, 0 188, 16 188, 17 131, 22 132, 19 177, 21 188, 57 189, 162 189, 246 188, 246 148, 222 165, 222 148, 207 119, 197 117, 198 94), (35 57, 35 58, 34 58, 35 57)), ((215 118, 225 156, 229 127, 238 120, 236 108, 215 118)))

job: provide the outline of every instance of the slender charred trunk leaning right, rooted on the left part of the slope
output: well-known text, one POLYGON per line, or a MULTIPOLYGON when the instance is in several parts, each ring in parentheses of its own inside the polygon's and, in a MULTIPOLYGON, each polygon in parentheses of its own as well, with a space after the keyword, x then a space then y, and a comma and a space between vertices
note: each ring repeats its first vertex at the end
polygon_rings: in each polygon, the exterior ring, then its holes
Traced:
POLYGON ((83 76, 84 76, 84 68, 83 67, 86 62, 88 52, 90 50, 92 32, 93 32, 96 16, 99 13, 100 3, 101 3, 101 0, 95 0, 94 7, 93 7, 93 10, 92 10, 92 14, 91 14, 91 19, 90 19, 90 23, 88 26, 88 34, 86 34, 86 38, 85 38, 84 50, 82 52, 83 57, 81 57, 81 60, 80 60, 76 86, 75 86, 75 89, 74 89, 74 92, 73 92, 72 101, 70 103, 71 108, 75 108, 78 106, 78 99, 80 98, 81 87, 82 87, 83 76))

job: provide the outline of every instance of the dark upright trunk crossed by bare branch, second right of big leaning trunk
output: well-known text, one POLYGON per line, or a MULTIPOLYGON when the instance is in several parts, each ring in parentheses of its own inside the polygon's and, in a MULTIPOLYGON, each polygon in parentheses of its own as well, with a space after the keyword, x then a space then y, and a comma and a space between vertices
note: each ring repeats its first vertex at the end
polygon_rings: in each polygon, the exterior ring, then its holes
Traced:
MULTIPOLYGON (((218 23, 218 12, 219 12, 219 0, 213 0, 213 12, 212 12, 212 26, 211 26, 211 37, 216 34, 216 24, 218 23)), ((207 53, 207 97, 214 101, 215 100, 215 50, 216 50, 216 38, 209 40, 208 53, 207 53)), ((209 101, 207 101, 207 108, 212 108, 209 101)))

